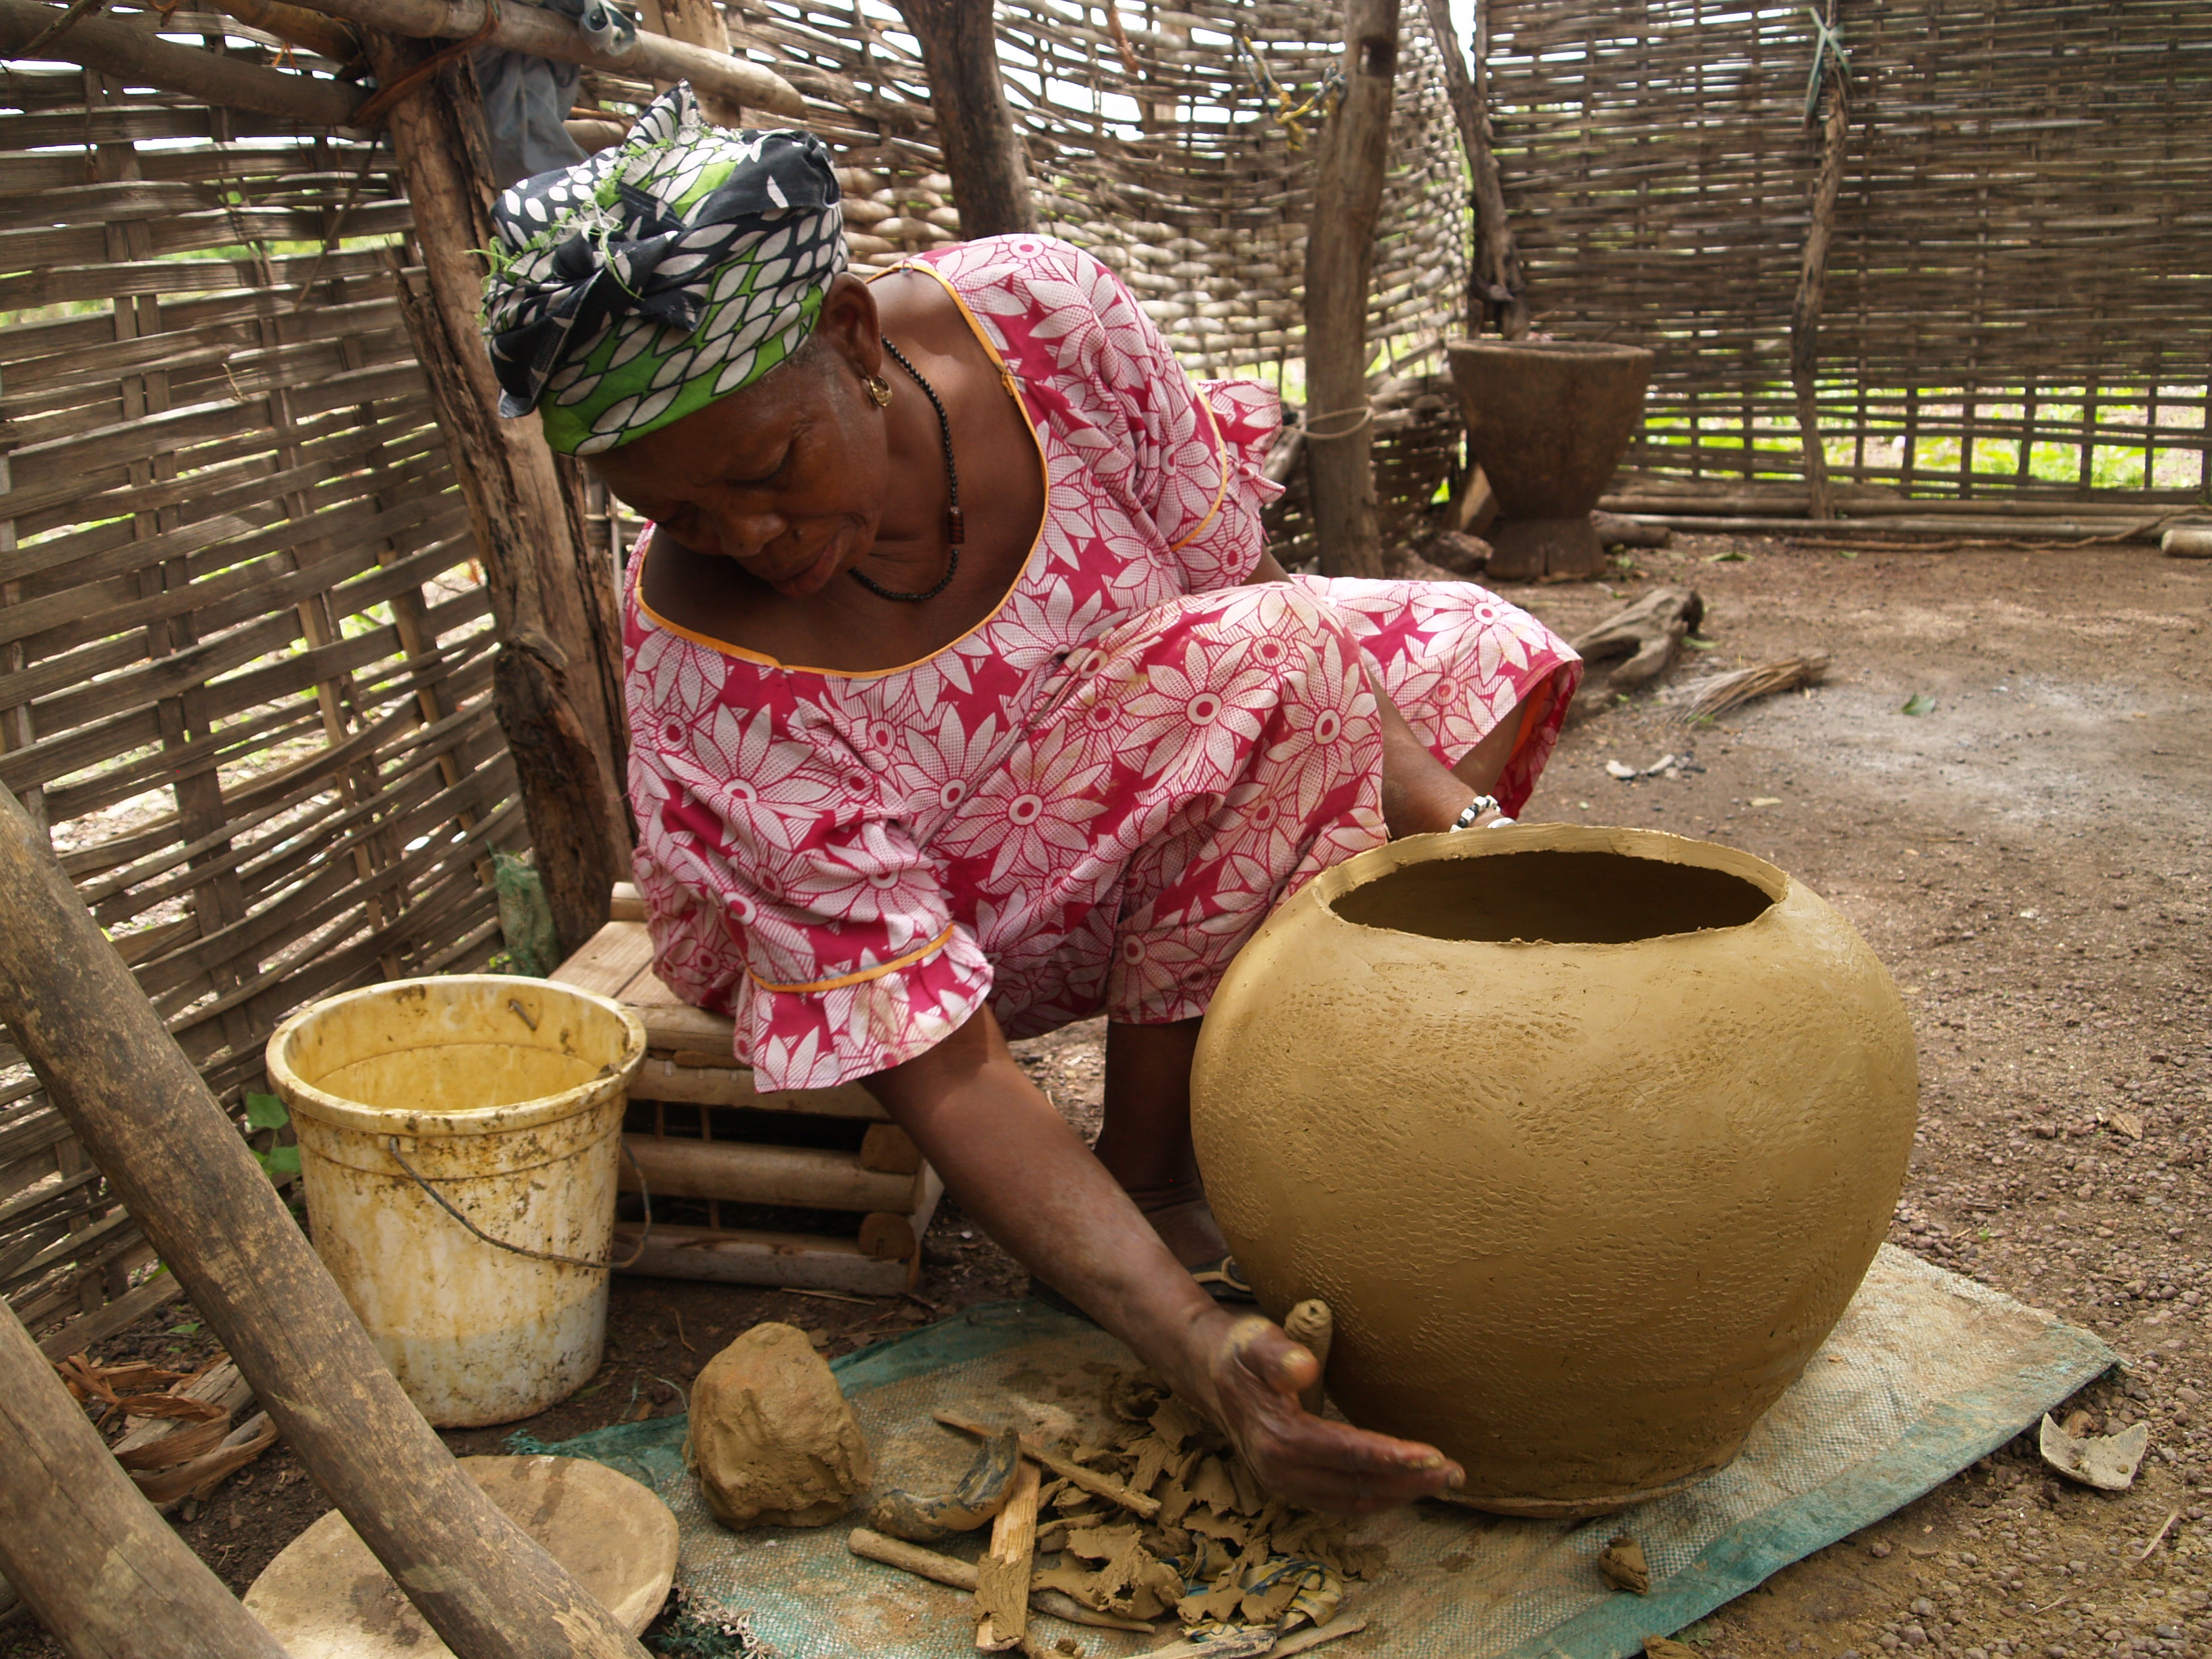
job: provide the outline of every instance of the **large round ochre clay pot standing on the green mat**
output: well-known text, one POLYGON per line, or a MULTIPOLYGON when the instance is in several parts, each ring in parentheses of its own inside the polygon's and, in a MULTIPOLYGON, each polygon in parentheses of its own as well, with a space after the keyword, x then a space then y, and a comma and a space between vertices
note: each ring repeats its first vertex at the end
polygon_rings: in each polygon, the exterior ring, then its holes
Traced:
POLYGON ((1329 1396, 1464 1498, 1679 1491, 1843 1316, 1918 1117, 1874 951, 1743 852, 1579 825, 1413 836, 1285 902, 1206 1013, 1192 1126, 1329 1396))

